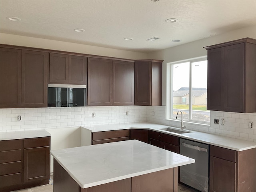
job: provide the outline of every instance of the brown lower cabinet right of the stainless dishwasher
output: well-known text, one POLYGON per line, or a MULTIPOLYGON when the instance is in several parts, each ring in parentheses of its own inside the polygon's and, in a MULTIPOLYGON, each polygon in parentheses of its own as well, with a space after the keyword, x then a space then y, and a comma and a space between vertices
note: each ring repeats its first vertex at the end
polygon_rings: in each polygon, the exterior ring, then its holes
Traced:
POLYGON ((234 151, 210 146, 210 192, 255 192, 256 148, 234 151))

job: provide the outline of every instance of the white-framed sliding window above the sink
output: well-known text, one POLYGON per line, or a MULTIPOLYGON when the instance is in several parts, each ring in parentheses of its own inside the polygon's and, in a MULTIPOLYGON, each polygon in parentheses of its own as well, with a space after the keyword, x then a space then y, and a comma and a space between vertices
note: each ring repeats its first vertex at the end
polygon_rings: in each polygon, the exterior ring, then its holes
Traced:
POLYGON ((170 119, 175 119, 181 110, 184 120, 209 124, 207 59, 171 63, 170 70, 170 119))

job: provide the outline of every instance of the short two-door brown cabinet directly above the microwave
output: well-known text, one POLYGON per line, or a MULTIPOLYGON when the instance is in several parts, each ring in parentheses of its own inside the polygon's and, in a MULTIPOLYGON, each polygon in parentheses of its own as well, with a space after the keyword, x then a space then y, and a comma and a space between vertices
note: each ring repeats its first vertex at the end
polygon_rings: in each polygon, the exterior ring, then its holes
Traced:
POLYGON ((83 84, 87 81, 87 57, 50 53, 50 83, 83 84))

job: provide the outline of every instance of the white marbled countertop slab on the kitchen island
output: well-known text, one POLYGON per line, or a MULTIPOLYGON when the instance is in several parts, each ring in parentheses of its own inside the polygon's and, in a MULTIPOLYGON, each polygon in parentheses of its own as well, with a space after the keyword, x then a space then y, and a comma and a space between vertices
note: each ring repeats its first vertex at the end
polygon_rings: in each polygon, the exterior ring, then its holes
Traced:
POLYGON ((194 163, 195 160, 137 140, 50 151, 81 188, 194 163))

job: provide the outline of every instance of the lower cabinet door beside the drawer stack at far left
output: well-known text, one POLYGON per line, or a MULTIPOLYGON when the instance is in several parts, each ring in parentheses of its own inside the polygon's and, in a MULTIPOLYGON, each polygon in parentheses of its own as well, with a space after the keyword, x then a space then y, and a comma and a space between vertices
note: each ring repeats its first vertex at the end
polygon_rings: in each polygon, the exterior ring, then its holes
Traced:
POLYGON ((50 147, 24 149, 24 182, 50 179, 50 147))

